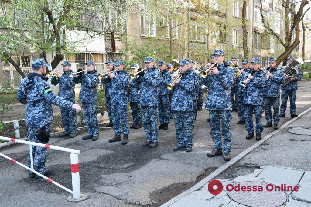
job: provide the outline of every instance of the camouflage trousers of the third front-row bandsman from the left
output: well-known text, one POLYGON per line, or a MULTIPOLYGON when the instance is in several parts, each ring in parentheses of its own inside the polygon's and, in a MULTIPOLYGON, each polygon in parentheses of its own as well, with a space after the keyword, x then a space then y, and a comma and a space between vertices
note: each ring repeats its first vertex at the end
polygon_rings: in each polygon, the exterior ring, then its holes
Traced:
POLYGON ((129 134, 127 115, 128 115, 127 105, 111 104, 112 124, 116 135, 121 134, 121 130, 122 134, 124 135, 129 134))

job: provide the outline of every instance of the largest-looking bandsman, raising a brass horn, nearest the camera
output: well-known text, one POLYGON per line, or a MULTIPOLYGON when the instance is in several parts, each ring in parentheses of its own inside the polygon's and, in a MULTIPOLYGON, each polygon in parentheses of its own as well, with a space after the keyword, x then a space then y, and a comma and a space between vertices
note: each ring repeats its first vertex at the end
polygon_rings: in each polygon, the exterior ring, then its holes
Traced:
POLYGON ((215 50, 213 55, 217 61, 218 67, 212 68, 211 75, 202 79, 203 84, 210 87, 206 96, 205 108, 209 111, 211 135, 214 141, 214 150, 208 152, 207 156, 213 157, 216 155, 223 155, 224 153, 224 160, 229 161, 231 159, 230 151, 232 144, 230 88, 234 83, 234 70, 224 61, 225 52, 223 50, 215 50), (223 152, 221 146, 220 120, 224 132, 223 152))

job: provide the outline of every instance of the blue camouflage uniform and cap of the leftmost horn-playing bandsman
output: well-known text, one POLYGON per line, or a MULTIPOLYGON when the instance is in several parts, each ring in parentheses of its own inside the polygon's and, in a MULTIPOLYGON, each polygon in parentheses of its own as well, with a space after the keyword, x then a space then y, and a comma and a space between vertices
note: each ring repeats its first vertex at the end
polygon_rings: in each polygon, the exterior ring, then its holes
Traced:
MULTIPOLYGON (((69 62, 65 61, 64 64, 68 65, 69 62)), ((71 66, 68 65, 68 66, 71 66)), ((70 73, 72 73, 72 70, 63 71, 64 73, 60 77, 60 79, 57 76, 53 76, 51 78, 52 85, 56 86, 59 84, 59 91, 58 96, 63 97, 67 101, 71 101, 75 103, 75 83, 72 80, 72 77, 70 77, 70 73)), ((64 131, 66 134, 77 134, 77 118, 76 118, 76 109, 73 108, 65 108, 61 107, 60 112, 62 115, 62 121, 64 126, 64 131)))

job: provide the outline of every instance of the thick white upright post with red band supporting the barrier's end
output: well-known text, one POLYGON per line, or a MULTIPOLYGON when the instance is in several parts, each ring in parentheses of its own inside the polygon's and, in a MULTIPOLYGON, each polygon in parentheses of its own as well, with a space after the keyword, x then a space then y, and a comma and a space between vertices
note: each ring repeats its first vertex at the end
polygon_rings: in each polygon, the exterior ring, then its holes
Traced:
POLYGON ((80 172, 79 172, 79 159, 78 155, 71 153, 70 154, 70 163, 71 163, 71 179, 72 179, 72 198, 78 199, 81 197, 80 191, 80 172))

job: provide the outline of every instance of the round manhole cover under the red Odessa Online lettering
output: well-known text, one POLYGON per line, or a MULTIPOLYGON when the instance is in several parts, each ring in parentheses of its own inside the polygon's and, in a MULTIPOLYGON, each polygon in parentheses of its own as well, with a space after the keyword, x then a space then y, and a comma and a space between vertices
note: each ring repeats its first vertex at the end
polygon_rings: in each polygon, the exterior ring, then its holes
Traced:
MULTIPOLYGON (((246 206, 281 206, 287 201, 287 194, 283 191, 267 191, 272 188, 272 184, 260 182, 241 182, 233 186, 227 186, 228 196, 239 204, 246 206), (245 187, 243 187, 245 186, 245 187), (256 186, 256 191, 254 190, 256 186), (233 190, 232 190, 233 187, 233 190), (243 187, 243 188, 242 188, 243 187), (261 188, 262 187, 262 188, 261 188), (246 190, 245 190, 245 189, 246 190), (244 189, 244 190, 242 190, 244 189), (248 191, 250 189, 251 191, 248 191), (262 189, 262 191, 261 191, 262 189), (232 191, 228 191, 232 190, 232 191)), ((273 185, 273 187, 275 187, 273 185)))

